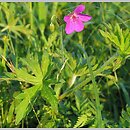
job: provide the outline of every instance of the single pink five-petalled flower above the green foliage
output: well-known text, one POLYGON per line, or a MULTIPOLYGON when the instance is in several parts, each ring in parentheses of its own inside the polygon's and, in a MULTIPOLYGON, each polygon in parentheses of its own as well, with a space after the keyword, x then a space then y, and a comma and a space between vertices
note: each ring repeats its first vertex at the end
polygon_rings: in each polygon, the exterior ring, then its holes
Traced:
POLYGON ((78 5, 72 13, 64 17, 64 21, 66 22, 65 31, 67 34, 71 34, 74 31, 81 32, 84 29, 83 22, 87 22, 92 18, 89 15, 81 14, 84 10, 84 5, 78 5))

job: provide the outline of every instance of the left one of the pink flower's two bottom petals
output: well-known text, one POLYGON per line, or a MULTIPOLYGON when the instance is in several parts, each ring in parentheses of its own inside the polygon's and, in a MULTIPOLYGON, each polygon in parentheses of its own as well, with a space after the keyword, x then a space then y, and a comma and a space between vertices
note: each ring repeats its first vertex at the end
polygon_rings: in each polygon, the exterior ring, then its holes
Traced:
POLYGON ((71 21, 71 20, 67 21, 67 24, 66 24, 66 27, 65 27, 66 33, 67 34, 73 33, 74 32, 74 28, 75 28, 74 26, 75 25, 74 25, 73 21, 71 21))

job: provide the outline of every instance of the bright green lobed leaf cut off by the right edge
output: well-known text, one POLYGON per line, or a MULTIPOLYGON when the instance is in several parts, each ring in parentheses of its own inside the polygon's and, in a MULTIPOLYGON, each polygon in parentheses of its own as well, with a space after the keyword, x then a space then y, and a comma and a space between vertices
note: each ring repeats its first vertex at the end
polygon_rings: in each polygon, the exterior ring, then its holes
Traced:
POLYGON ((129 29, 122 30, 117 23, 115 27, 106 24, 107 31, 100 30, 103 37, 109 39, 119 48, 119 53, 125 56, 130 55, 130 32, 129 29))

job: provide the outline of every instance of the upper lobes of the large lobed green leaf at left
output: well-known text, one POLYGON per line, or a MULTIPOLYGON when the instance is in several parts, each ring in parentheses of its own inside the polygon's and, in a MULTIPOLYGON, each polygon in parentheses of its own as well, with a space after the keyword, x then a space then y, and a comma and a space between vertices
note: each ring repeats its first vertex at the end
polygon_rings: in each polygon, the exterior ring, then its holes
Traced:
MULTIPOLYGON (((16 79, 19 81, 31 83, 33 85, 42 84, 42 81, 45 78, 45 75, 48 71, 49 66, 48 54, 46 53, 43 54, 41 65, 38 61, 37 56, 34 56, 32 58, 28 57, 26 59, 21 58, 21 61, 23 65, 27 67, 28 72, 27 69, 25 69, 25 67, 22 67, 20 69, 15 68, 15 73, 13 75, 16 76, 16 79)), ((7 75, 9 76, 9 73, 7 73, 7 75)))

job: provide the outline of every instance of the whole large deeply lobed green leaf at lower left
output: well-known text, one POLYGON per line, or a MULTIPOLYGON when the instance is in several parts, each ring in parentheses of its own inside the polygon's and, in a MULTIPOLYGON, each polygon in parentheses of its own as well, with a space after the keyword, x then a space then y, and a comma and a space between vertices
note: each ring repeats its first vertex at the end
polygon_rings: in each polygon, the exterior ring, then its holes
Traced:
MULTIPOLYGON (((19 122, 29 114, 29 112, 33 109, 33 104, 35 103, 36 97, 37 97, 37 91, 41 90, 41 95, 42 97, 47 100, 51 105, 52 109, 54 109, 55 112, 57 112, 57 105, 58 101, 56 97, 53 95, 53 90, 46 86, 45 76, 48 71, 48 66, 49 66, 49 55, 45 52, 43 53, 42 60, 41 60, 41 65, 38 62, 38 57, 35 56, 34 58, 28 57, 26 59, 20 59, 22 62, 23 66, 20 69, 15 68, 14 73, 7 73, 6 75, 10 77, 10 80, 18 80, 26 83, 30 83, 33 86, 31 88, 25 89, 23 93, 20 93, 17 95, 10 106, 9 110, 9 119, 8 122, 10 122, 11 115, 13 114, 13 109, 15 107, 15 114, 16 114, 16 125, 19 124, 19 122), (27 69, 25 69, 27 67, 27 69), (31 72, 31 74, 30 74, 31 72), (33 76, 33 75, 34 76, 33 76), (42 84, 43 87, 42 87, 42 84), (33 101, 32 101, 33 100, 33 101), (16 103, 15 102, 19 102, 16 103), (15 104, 15 106, 14 106, 15 104)), ((6 80, 6 78, 4 79, 6 80)))

